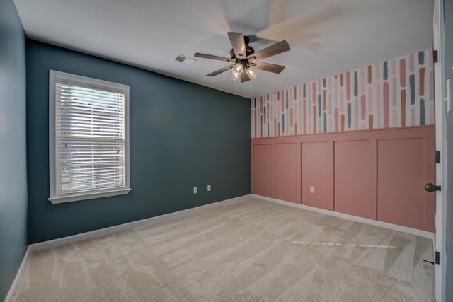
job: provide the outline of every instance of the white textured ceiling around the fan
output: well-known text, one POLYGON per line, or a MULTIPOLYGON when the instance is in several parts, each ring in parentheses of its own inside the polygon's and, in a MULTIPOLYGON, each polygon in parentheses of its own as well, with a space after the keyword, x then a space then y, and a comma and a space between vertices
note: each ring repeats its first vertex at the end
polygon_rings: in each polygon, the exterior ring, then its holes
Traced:
POLYGON ((139 66, 220 91, 254 97, 432 47, 433 0, 14 0, 28 37, 139 66), (229 31, 256 35, 261 50, 287 40, 292 50, 263 62, 246 83, 227 62, 229 31))

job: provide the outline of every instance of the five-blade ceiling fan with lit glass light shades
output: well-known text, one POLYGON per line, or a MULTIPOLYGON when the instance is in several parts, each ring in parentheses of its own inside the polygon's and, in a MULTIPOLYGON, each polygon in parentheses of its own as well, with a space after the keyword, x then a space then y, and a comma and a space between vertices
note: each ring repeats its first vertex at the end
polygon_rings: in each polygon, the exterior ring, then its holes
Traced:
POLYGON ((244 36, 242 33, 229 32, 228 37, 231 42, 231 46, 233 46, 233 49, 230 51, 231 59, 214 56, 212 54, 202 54, 200 52, 194 54, 195 57, 215 59, 232 63, 224 68, 207 74, 207 76, 217 76, 217 74, 222 74, 222 72, 231 69, 231 80, 236 83, 243 83, 250 81, 251 79, 255 79, 256 71, 254 69, 269 71, 274 74, 280 74, 280 72, 285 69, 285 66, 282 65, 260 62, 261 59, 272 57, 275 56, 275 54, 281 54, 282 52, 291 50, 291 47, 289 47, 288 42, 285 40, 255 52, 252 47, 248 46, 249 38, 244 36))

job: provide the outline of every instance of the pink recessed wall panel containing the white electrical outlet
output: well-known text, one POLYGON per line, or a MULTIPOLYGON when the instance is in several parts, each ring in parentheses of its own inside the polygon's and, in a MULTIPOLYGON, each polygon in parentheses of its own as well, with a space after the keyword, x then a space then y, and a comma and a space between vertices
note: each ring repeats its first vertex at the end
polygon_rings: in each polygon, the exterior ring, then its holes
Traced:
POLYGON ((328 155, 327 141, 302 143, 302 204, 332 210, 328 198, 328 155), (310 187, 314 187, 314 193, 310 187))

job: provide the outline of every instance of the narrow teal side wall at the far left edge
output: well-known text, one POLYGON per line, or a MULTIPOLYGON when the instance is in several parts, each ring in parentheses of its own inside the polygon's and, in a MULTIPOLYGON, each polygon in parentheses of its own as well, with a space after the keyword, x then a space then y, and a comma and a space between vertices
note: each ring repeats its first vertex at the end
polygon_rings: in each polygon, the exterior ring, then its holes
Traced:
POLYGON ((13 0, 0 0, 0 301, 27 248, 25 34, 13 0))

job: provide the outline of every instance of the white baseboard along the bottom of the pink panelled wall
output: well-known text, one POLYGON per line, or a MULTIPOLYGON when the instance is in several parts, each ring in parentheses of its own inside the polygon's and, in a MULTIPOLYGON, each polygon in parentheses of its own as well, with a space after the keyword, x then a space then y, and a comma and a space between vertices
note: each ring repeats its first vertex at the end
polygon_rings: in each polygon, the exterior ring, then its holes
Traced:
POLYGON ((434 233, 428 232, 428 231, 418 230, 416 228, 408 228, 407 226, 398 226, 398 225, 393 224, 393 223, 387 223, 387 222, 377 221, 377 220, 373 220, 373 219, 367 219, 367 218, 352 216, 352 215, 348 215, 348 214, 338 213, 336 211, 329 211, 329 210, 326 210, 326 209, 319 209, 319 208, 315 208, 315 207, 309 207, 309 206, 306 206, 304 204, 295 204, 294 202, 285 202, 284 200, 270 198, 270 197, 265 197, 265 196, 260 196, 260 195, 257 195, 257 194, 251 194, 251 196, 253 198, 265 200, 265 201, 268 201, 268 202, 275 202, 277 204, 285 204, 285 205, 287 205, 289 207, 296 207, 296 208, 305 209, 305 210, 308 210, 308 211, 315 211, 315 212, 321 213, 321 214, 326 214, 326 215, 330 215, 330 216, 336 216, 336 217, 340 217, 340 218, 343 218, 343 219, 348 219, 348 220, 357 221, 357 222, 361 222, 361 223, 371 224, 372 226, 380 226, 382 228, 389 228, 389 229, 394 230, 394 231, 400 231, 400 232, 409 233, 409 234, 412 234, 412 235, 415 235, 415 236, 421 236, 421 237, 425 237, 425 238, 434 239, 434 233))

